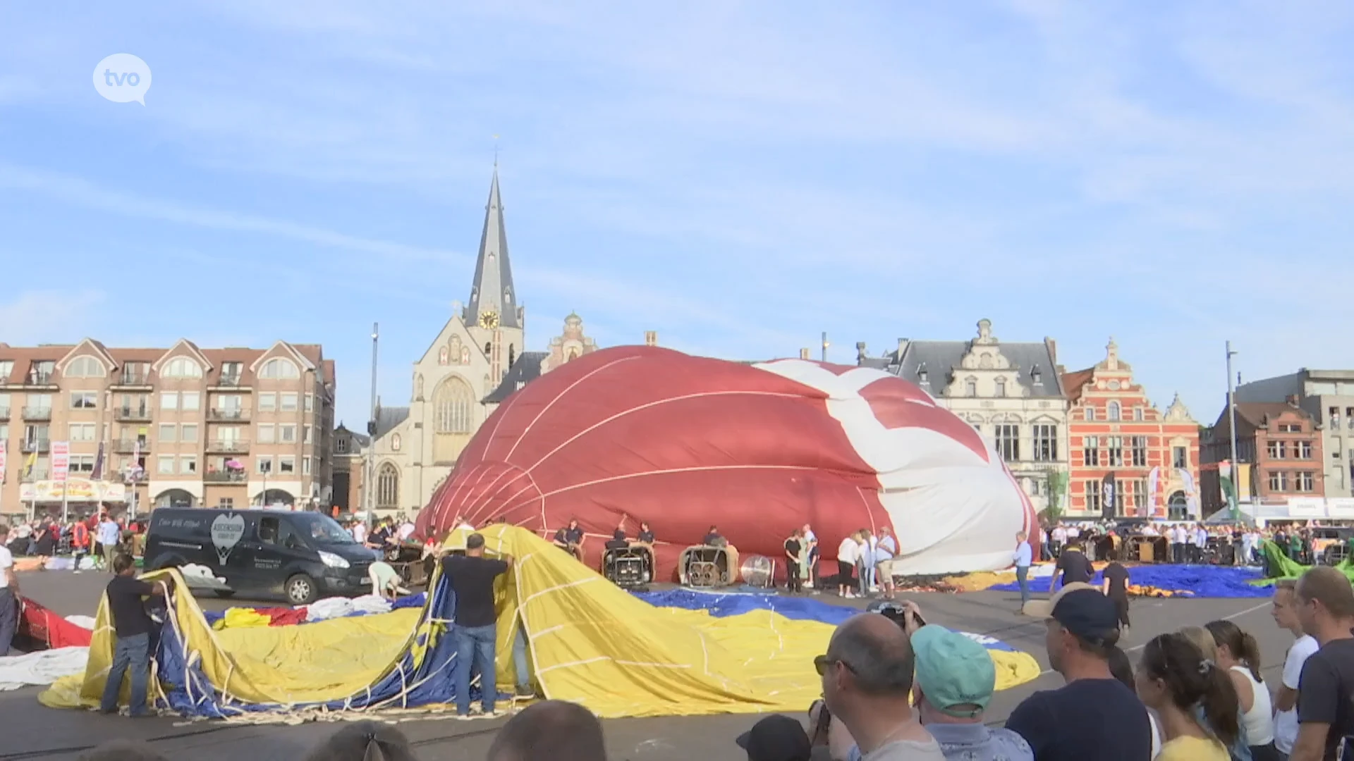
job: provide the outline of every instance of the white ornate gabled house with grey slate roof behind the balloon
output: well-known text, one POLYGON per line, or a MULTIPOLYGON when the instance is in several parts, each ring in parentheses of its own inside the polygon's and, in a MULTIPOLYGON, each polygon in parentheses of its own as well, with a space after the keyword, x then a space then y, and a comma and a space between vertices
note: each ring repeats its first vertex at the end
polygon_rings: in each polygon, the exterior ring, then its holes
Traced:
POLYGON ((988 436, 1036 510, 1060 502, 1067 473, 1067 398, 1057 375, 1052 339, 1040 343, 1001 341, 988 320, 978 322, 968 341, 898 340, 883 357, 865 356, 856 344, 857 363, 887 370, 910 380, 937 402, 988 436))

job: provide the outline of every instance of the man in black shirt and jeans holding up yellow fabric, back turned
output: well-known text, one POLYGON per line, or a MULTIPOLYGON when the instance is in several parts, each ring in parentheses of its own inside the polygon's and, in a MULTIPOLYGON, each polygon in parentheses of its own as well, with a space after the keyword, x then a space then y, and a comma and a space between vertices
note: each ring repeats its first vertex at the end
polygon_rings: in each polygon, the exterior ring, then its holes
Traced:
MULTIPOLYGON (((470 715, 470 668, 479 669, 481 707, 486 715, 494 712, 498 685, 494 684, 494 646, 498 631, 494 623, 494 580, 512 567, 512 555, 501 561, 485 557, 485 538, 471 534, 466 538, 464 555, 447 555, 441 570, 456 594, 451 635, 456 642, 456 664, 452 685, 456 689, 456 714, 470 715)), ((519 678, 519 681, 521 681, 519 678)))

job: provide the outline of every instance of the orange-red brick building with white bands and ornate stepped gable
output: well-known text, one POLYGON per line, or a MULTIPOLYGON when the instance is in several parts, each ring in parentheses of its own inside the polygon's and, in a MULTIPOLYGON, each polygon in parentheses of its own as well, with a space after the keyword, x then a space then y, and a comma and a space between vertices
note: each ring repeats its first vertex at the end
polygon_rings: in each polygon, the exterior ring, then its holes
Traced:
POLYGON ((1198 422, 1179 395, 1164 413, 1152 406, 1113 339, 1095 367, 1063 372, 1063 389, 1071 439, 1068 517, 1198 512, 1198 422))

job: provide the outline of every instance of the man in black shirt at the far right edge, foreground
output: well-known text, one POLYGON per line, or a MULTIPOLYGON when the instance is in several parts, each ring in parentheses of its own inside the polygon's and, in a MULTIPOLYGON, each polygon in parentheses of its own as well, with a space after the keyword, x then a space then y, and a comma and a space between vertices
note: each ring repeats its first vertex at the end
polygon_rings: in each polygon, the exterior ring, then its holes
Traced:
POLYGON ((1322 646, 1303 664, 1297 682, 1297 742, 1289 761, 1335 761, 1354 750, 1354 589, 1331 566, 1317 566, 1297 580, 1297 619, 1322 646))

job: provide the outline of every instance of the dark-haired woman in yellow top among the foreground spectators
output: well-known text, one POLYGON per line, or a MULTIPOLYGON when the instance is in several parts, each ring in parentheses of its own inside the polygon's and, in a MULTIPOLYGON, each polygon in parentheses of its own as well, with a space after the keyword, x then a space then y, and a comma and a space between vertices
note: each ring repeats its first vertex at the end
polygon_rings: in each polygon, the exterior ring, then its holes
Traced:
POLYGON ((1204 658, 1182 634, 1163 634, 1143 647, 1137 696, 1162 718, 1156 761, 1229 761, 1240 737, 1236 689, 1227 672, 1204 658), (1205 723, 1196 707, 1209 716, 1205 723))

